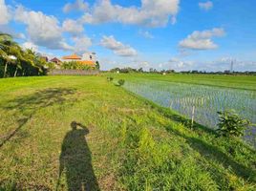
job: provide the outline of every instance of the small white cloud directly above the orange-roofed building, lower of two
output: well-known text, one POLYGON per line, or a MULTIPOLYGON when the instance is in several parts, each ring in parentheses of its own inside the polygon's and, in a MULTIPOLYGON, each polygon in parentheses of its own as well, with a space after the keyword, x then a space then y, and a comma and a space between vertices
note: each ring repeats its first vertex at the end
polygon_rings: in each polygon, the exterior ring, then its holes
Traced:
POLYGON ((75 53, 84 53, 92 46, 91 38, 85 35, 79 37, 76 36, 73 38, 73 41, 75 42, 75 53))

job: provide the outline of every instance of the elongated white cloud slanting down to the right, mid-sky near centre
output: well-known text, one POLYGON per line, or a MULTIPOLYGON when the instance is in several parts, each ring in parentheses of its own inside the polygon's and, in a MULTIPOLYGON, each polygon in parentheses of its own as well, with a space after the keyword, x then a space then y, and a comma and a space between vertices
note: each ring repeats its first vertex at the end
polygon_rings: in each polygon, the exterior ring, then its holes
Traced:
POLYGON ((114 51, 117 55, 121 56, 134 56, 137 55, 137 51, 129 45, 124 45, 117 41, 113 35, 103 36, 100 40, 100 45, 107 49, 114 51))

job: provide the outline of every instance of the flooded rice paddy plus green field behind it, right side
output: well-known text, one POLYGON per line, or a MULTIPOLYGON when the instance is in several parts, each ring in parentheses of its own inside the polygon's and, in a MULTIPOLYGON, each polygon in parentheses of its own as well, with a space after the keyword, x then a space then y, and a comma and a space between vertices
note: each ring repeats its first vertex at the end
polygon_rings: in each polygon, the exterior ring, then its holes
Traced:
MULTIPOLYGON (((124 88, 139 96, 194 118, 206 127, 216 129, 217 112, 235 110, 256 124, 255 76, 212 74, 133 74, 115 75, 126 78, 124 88), (181 78, 183 76, 183 78, 181 78), (220 83, 219 81, 222 81, 220 83), (244 82, 242 87, 241 81, 244 82), (255 84, 255 86, 251 86, 255 84)), ((247 129, 245 140, 256 147, 256 129, 247 129)))

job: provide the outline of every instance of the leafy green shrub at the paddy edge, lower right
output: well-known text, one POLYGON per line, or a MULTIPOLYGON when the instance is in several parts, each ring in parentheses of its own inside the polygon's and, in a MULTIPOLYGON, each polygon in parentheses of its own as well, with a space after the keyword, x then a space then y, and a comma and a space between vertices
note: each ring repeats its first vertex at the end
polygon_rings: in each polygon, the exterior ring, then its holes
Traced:
POLYGON ((250 121, 239 117, 234 111, 218 112, 219 123, 217 131, 224 137, 241 137, 250 121))

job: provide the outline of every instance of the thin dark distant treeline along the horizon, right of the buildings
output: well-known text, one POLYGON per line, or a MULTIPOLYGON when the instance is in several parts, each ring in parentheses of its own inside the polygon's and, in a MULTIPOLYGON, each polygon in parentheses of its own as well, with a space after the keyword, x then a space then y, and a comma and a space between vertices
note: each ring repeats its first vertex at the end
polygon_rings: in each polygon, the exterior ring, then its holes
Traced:
POLYGON ((205 71, 181 71, 181 72, 176 72, 175 70, 157 70, 150 68, 149 71, 143 71, 142 68, 139 69, 133 69, 130 67, 127 68, 114 68, 110 70, 111 73, 150 73, 150 74, 250 74, 250 75, 255 75, 256 72, 251 72, 251 71, 245 71, 245 72, 230 72, 230 71, 224 71, 224 72, 205 72, 205 71))

